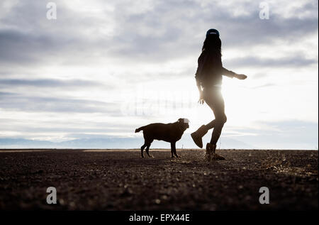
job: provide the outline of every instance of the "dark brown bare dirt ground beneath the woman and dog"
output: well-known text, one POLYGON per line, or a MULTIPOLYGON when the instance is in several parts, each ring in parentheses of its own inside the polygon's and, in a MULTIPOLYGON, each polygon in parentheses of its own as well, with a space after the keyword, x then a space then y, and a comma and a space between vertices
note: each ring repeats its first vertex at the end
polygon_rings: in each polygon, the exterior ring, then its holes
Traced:
POLYGON ((0 150, 0 209, 318 209, 318 151, 0 150), (57 204, 47 204, 47 187, 57 204), (259 204, 259 188, 269 204, 259 204))

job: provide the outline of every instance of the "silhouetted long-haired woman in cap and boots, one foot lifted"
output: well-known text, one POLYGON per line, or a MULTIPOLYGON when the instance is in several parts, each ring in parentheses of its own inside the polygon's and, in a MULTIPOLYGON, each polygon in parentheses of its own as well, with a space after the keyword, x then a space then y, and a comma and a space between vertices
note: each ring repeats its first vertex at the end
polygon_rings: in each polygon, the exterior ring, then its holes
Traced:
POLYGON ((216 29, 210 29, 206 33, 206 39, 203 43, 201 55, 198 57, 198 67, 196 71, 196 85, 199 91, 200 104, 206 101, 213 110, 215 119, 210 123, 201 126, 197 131, 191 133, 191 138, 199 148, 203 148, 202 137, 213 128, 211 142, 206 145, 206 159, 224 160, 223 156, 217 155, 216 143, 220 137, 227 117, 225 115, 224 99, 221 94, 221 84, 223 75, 227 77, 236 77, 237 79, 246 79, 246 75, 238 75, 235 72, 226 70, 221 62, 221 41, 219 32, 216 29))

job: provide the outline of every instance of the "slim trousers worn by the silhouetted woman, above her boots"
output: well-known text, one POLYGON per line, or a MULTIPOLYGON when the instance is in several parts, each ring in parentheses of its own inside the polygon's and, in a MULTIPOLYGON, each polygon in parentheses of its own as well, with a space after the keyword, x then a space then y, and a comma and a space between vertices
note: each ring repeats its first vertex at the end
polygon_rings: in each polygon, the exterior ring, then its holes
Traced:
POLYGON ((225 115, 225 104, 223 95, 221 94, 221 88, 204 88, 203 99, 206 101, 206 104, 208 104, 208 106, 211 107, 215 115, 215 119, 211 121, 209 124, 206 124, 206 128, 208 130, 214 128, 213 133, 211 135, 211 144, 216 145, 218 138, 220 137, 220 133, 223 129, 223 126, 227 121, 227 117, 225 115))

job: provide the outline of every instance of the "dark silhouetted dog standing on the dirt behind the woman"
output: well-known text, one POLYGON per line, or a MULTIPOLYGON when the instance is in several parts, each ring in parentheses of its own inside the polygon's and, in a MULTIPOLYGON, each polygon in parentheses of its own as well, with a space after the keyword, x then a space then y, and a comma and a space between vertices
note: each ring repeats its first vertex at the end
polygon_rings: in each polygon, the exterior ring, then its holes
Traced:
POLYGON ((143 150, 146 147, 145 152, 149 157, 153 158, 153 156, 149 153, 150 145, 152 141, 159 140, 171 143, 172 158, 174 158, 174 155, 179 158, 180 156, 177 155, 176 152, 176 143, 179 139, 181 139, 181 136, 183 136, 183 133, 187 128, 189 128, 189 120, 184 118, 180 118, 172 124, 155 123, 137 128, 135 133, 143 131, 145 141, 144 145, 140 147, 141 157, 144 158, 143 150))

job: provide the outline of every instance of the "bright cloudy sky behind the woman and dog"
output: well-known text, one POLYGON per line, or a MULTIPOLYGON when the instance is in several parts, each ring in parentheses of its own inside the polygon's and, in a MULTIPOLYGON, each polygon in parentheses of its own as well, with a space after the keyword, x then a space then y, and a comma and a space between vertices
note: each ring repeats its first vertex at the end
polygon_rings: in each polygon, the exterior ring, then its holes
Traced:
POLYGON ((318 1, 52 1, 57 19, 47 2, 0 2, 0 139, 142 141, 180 117, 189 138, 213 119, 194 73, 216 28, 224 67, 248 76, 223 79, 221 148, 318 149, 318 1))

